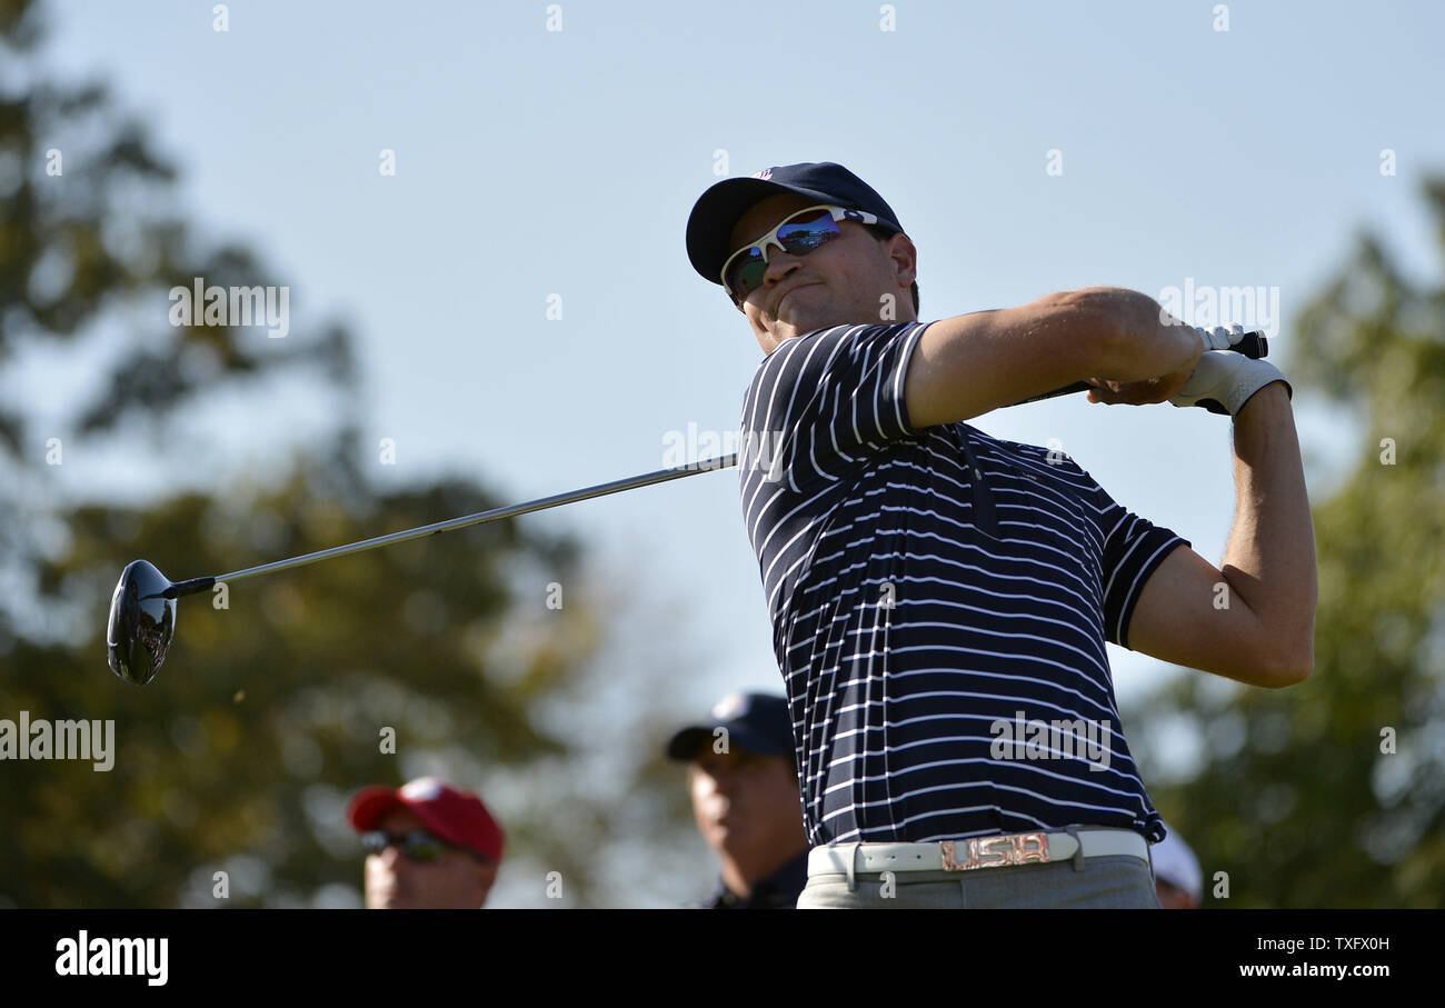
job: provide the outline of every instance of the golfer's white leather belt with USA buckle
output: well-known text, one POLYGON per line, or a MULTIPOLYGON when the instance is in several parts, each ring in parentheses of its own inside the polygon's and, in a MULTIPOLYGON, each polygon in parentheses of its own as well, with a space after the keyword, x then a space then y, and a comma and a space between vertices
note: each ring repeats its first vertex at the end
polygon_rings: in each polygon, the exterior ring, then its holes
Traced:
POLYGON ((1150 864, 1149 840, 1134 830, 1081 827, 932 843, 838 843, 814 848, 808 855, 808 874, 851 878, 886 871, 974 871, 1120 853, 1150 864))

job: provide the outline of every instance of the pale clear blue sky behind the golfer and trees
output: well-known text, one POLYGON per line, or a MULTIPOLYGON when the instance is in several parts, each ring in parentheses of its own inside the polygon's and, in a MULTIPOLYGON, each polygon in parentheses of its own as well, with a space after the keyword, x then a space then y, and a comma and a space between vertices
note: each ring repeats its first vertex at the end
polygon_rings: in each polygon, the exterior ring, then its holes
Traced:
MULTIPOLYGON (((903 0, 881 30, 871 1, 565 1, 551 32, 539 1, 269 1, 230 4, 224 33, 211 6, 53 3, 45 62, 114 85, 179 163, 181 208, 292 287, 293 332, 353 325, 367 439, 397 445, 383 479, 526 500, 659 468, 689 423, 736 429, 762 352, 682 243, 724 159, 867 179, 918 244, 925 319, 1095 283, 1277 287, 1287 374, 1292 321, 1358 228, 1439 270, 1419 182, 1445 169, 1441 4, 1231 3, 1215 30, 1202 1, 903 0)), ((303 387, 269 406, 201 427, 221 448, 197 478, 262 477, 324 417, 303 387)), ((1296 406, 1318 500, 1351 426, 1296 406)), ((1224 417, 1069 397, 974 425, 1059 439, 1220 562, 1224 417)), ((621 575, 640 614, 620 647, 686 656, 679 709, 780 686, 734 472, 523 520, 621 575)), ((1126 696, 1165 673, 1111 659, 1126 696)))

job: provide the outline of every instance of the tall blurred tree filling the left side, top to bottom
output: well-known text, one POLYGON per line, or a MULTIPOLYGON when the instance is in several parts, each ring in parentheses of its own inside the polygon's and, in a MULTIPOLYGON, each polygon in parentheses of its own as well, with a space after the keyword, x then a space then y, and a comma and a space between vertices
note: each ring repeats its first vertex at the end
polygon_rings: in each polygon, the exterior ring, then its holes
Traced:
MULTIPOLYGON (((38 4, 0 0, 0 59, 27 65, 42 38, 38 4)), ((280 279, 250 250, 211 246, 155 209, 176 169, 104 85, 27 66, 27 85, 0 97, 0 378, 40 348, 94 371, 94 391, 59 403, 43 429, 49 388, 0 400, 0 719, 114 722, 114 741, 108 770, 0 762, 0 904, 355 904, 347 797, 428 771, 484 796, 527 781, 529 796, 499 809, 512 852, 562 872, 569 905, 616 900, 556 829, 561 810, 598 846, 666 843, 686 822, 666 796, 620 804, 627 780, 578 780, 578 761, 629 724, 579 739, 539 715, 597 687, 607 640, 598 575, 571 539, 494 523, 238 582, 211 605, 181 604, 150 686, 105 669, 110 589, 134 557, 176 579, 221 573, 500 501, 462 479, 376 485, 345 328, 267 339, 224 322, 172 325, 169 292, 192 277, 280 279), (175 488, 188 462, 178 423, 225 394, 276 409, 267 383, 295 374, 334 397, 334 426, 277 445, 266 479, 175 488), (59 478, 77 455, 104 453, 160 477, 124 501, 59 478), (561 608, 546 604, 552 583, 565 588, 561 608), (656 833, 636 838, 647 814, 656 833)), ((657 716, 666 693, 647 676, 665 672, 637 670, 636 716, 657 716)), ((539 904, 542 891, 539 878, 539 904)))

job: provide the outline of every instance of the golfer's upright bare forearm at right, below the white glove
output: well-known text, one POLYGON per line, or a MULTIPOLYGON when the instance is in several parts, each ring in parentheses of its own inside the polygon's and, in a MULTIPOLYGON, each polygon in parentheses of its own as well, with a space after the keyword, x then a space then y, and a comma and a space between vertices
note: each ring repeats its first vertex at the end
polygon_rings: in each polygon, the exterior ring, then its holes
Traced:
POLYGON ((1260 388, 1234 416, 1234 529, 1221 566, 1231 591, 1259 617, 1276 660, 1314 667, 1315 526, 1295 416, 1285 386, 1260 388))

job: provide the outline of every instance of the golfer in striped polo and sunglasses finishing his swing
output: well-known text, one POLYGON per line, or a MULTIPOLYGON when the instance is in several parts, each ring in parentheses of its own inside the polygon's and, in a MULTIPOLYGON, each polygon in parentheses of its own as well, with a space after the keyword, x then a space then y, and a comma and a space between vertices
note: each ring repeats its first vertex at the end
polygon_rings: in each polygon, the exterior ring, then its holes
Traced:
POLYGON ((1264 687, 1311 673, 1285 375, 1114 287, 920 323, 918 250, 835 163, 714 185, 686 243, 766 355, 741 494, 812 848, 799 908, 1157 908, 1165 829, 1105 643, 1264 687), (1222 570, 1062 452, 968 423, 1081 380, 1233 417, 1222 570))

